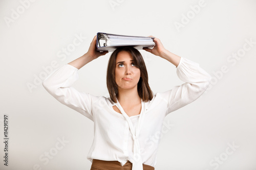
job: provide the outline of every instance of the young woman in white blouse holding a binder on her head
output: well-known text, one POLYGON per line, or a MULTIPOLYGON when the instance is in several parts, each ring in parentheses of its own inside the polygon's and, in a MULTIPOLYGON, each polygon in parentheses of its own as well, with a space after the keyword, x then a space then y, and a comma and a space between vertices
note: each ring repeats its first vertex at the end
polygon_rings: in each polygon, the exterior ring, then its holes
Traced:
POLYGON ((153 94, 139 51, 119 47, 108 63, 110 98, 77 91, 71 86, 78 70, 108 53, 96 51, 96 36, 86 54, 54 70, 42 83, 60 103, 94 122, 94 140, 87 156, 91 169, 155 169, 164 117, 198 99, 209 85, 211 77, 198 63, 167 51, 158 38, 154 41, 153 49, 143 50, 174 64, 184 84, 153 94))

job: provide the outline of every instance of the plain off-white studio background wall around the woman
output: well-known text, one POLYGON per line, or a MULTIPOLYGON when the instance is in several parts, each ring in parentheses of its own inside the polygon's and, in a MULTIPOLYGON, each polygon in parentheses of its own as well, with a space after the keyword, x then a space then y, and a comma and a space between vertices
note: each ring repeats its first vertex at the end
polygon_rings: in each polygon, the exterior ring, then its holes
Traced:
MULTIPOLYGON (((199 63, 213 78, 198 100, 165 117, 165 123, 173 127, 161 138, 156 170, 256 169, 256 1, 205 0, 195 13, 190 6, 199 2, 1 0, 0 133, 3 139, 3 118, 8 114, 9 162, 4 166, 1 142, 0 168, 90 169, 86 156, 93 141, 93 122, 59 103, 40 81, 51 68, 56 69, 52 62, 60 67, 75 60, 87 52, 97 32, 106 32, 153 35, 167 50, 199 63), (190 19, 185 23, 187 15, 190 19), (178 22, 183 27, 178 29, 178 22), (72 49, 79 35, 86 38, 72 49), (246 39, 254 44, 249 46, 246 39), (66 55, 62 50, 68 47, 71 51, 66 55), (241 57, 232 58, 237 53, 241 57), (68 141, 60 150, 55 146, 58 138, 68 141), (238 148, 232 151, 228 143, 238 148), (41 156, 46 159, 50 151, 57 151, 52 159, 39 160, 41 156)), ((140 52, 154 93, 184 83, 172 63, 140 52)), ((105 78, 110 55, 79 69, 79 80, 73 86, 108 95, 105 78)))

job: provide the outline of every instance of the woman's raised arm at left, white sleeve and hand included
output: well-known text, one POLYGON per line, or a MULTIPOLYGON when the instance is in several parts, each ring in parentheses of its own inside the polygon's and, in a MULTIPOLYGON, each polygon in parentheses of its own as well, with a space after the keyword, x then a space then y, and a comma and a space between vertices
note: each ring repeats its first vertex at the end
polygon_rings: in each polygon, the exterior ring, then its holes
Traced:
POLYGON ((60 103, 93 120, 92 103, 97 101, 99 97, 79 92, 72 87, 72 84, 78 79, 78 69, 106 53, 108 52, 99 53, 96 51, 95 36, 86 54, 55 69, 42 82, 42 85, 60 103))

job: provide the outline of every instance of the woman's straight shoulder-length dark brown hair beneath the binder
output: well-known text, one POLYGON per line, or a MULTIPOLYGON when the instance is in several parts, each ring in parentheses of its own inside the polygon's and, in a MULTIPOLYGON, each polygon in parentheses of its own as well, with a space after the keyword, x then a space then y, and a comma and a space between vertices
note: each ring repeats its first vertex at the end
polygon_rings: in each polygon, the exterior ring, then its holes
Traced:
POLYGON ((118 85, 115 80, 115 68, 116 68, 116 57, 119 52, 126 51, 129 52, 134 60, 135 66, 140 69, 140 80, 138 82, 138 94, 143 102, 151 101, 153 98, 153 92, 148 84, 148 76, 146 65, 140 54, 140 52, 131 46, 118 47, 110 56, 108 69, 106 71, 106 86, 108 87, 110 98, 113 102, 117 103, 118 96, 118 85))

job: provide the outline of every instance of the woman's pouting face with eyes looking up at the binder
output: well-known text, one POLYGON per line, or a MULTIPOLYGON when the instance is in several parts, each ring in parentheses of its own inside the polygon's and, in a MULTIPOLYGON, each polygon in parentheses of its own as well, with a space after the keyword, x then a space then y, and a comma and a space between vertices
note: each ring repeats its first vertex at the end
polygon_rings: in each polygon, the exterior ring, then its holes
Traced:
POLYGON ((135 66, 133 57, 129 52, 121 51, 118 53, 115 76, 118 89, 137 89, 140 80, 140 69, 135 66))

